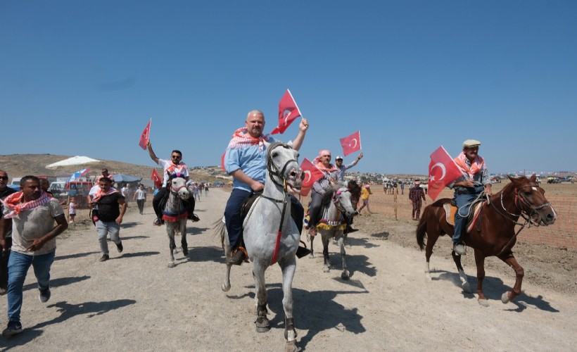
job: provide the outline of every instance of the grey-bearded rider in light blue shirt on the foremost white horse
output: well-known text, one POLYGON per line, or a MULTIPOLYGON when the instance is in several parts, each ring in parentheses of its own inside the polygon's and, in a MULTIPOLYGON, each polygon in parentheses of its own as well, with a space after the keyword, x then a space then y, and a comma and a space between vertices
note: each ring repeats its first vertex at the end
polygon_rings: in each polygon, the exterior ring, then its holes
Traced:
MULTIPOLYGON (((224 168, 234 177, 232 193, 224 209, 232 256, 229 264, 241 265, 246 259, 246 253, 241 246, 243 224, 241 207, 255 192, 265 188, 265 172, 267 171, 267 147, 264 142, 278 142, 269 135, 262 134, 265 128, 265 114, 260 110, 250 111, 246 117, 245 127, 234 132, 224 153, 224 168)), ((293 142, 293 149, 298 150, 303 144, 308 129, 305 118, 300 120, 299 131, 293 142)), ((291 208, 295 210, 296 225, 300 230, 303 226, 304 209, 298 200, 291 196, 291 208)))

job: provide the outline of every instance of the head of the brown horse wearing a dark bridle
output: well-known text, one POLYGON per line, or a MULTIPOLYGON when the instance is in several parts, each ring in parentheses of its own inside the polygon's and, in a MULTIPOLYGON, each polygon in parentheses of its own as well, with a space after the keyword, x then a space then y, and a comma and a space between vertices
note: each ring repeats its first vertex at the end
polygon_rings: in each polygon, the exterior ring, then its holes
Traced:
POLYGON ((526 215, 537 225, 553 225, 557 220, 557 213, 551 203, 545 198, 545 190, 539 187, 537 176, 510 177, 515 196, 515 205, 521 214, 526 215))

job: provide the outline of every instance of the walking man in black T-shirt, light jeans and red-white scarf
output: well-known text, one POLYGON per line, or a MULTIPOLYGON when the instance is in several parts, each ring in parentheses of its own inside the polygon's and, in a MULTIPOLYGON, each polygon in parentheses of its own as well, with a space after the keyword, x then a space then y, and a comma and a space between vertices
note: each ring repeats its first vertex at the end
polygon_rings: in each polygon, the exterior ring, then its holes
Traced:
POLYGON ((99 235, 100 249, 102 257, 99 261, 108 260, 108 243, 106 236, 110 233, 110 240, 116 244, 118 253, 122 253, 122 241, 120 240, 120 224, 122 216, 125 215, 126 203, 125 197, 120 192, 111 187, 108 177, 101 177, 99 180, 100 189, 92 197, 90 208, 99 207, 99 220, 96 221, 96 234, 99 235))

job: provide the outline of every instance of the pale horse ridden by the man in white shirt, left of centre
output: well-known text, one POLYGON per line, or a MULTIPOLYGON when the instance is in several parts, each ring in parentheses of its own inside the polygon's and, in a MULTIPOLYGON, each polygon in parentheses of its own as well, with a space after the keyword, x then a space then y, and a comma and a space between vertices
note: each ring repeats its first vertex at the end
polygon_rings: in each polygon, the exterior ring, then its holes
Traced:
POLYGON ((175 234, 180 233, 182 239, 182 254, 188 256, 189 247, 186 243, 186 218, 189 215, 186 200, 191 196, 191 191, 186 188, 186 180, 180 174, 173 173, 169 175, 166 187, 169 191, 168 200, 163 210, 163 220, 166 224, 166 233, 170 240, 170 262, 168 268, 175 268, 175 253, 177 245, 175 244, 175 234))

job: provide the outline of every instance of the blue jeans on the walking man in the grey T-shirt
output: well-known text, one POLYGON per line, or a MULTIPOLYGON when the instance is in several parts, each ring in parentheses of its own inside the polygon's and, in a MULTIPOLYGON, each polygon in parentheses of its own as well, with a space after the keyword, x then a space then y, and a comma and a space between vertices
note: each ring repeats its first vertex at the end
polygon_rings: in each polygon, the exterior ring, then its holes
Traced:
POLYGON ((56 251, 29 256, 13 251, 8 260, 8 320, 20 321, 22 309, 22 289, 26 273, 30 265, 34 268, 34 275, 38 280, 38 289, 47 289, 50 284, 50 267, 54 261, 56 251))

